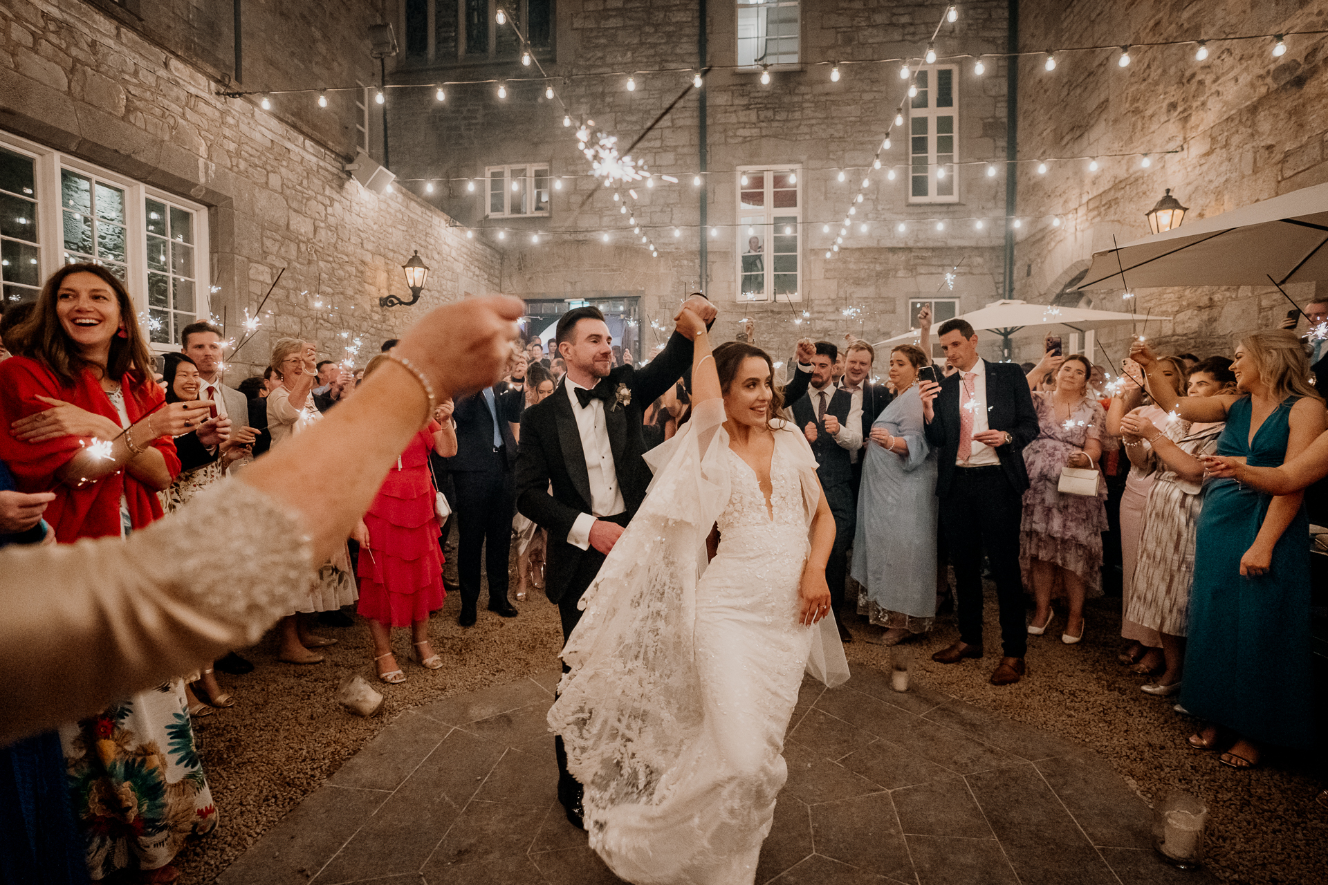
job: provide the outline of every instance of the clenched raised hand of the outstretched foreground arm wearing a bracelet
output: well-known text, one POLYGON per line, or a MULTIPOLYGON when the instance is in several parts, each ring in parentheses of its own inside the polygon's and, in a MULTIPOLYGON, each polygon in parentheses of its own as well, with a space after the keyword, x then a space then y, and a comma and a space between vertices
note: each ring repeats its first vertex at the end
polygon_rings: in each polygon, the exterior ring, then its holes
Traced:
POLYGON ((393 348, 424 373, 440 402, 490 386, 502 375, 517 340, 521 299, 490 295, 434 308, 393 348))

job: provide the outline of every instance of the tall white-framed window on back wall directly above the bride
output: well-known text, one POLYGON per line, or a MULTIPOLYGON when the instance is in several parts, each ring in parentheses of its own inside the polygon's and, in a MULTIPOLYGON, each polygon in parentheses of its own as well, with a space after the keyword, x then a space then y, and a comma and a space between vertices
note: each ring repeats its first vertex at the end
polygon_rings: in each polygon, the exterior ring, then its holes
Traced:
POLYGON ((740 301, 801 301, 802 194, 797 167, 738 169, 740 301))

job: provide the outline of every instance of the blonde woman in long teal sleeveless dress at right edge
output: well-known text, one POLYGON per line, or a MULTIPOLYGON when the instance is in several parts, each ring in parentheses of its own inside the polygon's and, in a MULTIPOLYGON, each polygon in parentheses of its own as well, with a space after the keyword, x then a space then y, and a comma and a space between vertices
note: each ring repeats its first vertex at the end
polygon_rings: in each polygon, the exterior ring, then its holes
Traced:
MULTIPOLYGON (((1130 356, 1157 370, 1142 342, 1130 356)), ((1234 395, 1174 397, 1158 405, 1187 421, 1226 419, 1219 456, 1278 467, 1328 425, 1305 381, 1309 361, 1291 332, 1244 338, 1231 364, 1234 395)), ((1270 495, 1235 479, 1204 490, 1195 540, 1190 638, 1181 703, 1208 724, 1190 736, 1220 762, 1250 768, 1262 744, 1312 740, 1309 659, 1309 523, 1301 492, 1270 495)))

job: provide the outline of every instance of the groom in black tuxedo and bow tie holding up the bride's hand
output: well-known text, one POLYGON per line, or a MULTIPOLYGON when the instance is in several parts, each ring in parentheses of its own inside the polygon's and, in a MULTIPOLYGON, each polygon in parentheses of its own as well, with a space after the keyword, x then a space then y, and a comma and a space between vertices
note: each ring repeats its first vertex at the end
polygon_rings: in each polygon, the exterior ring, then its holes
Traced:
MULTIPOLYGON (((706 324, 716 314, 703 295, 689 297, 683 310, 706 324)), ((568 310, 558 321, 556 337, 567 374, 521 418, 517 510, 548 529, 544 593, 558 605, 564 644, 580 620, 576 604, 645 499, 651 471, 641 458, 641 423, 645 409, 692 365, 685 328, 679 324, 663 353, 645 366, 615 369, 604 314, 592 306, 568 310)), ((558 800, 567 820, 582 827, 582 785, 567 771, 560 736, 554 747, 558 800)))

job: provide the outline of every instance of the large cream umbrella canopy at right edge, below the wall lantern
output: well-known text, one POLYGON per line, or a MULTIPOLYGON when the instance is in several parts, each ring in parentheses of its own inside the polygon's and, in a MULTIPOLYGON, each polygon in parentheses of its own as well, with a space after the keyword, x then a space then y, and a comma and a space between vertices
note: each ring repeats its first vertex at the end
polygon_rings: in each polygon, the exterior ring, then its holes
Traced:
POLYGON ((1328 280, 1325 244, 1328 184, 1315 184, 1094 252, 1078 288, 1268 285, 1270 276, 1278 285, 1328 280))

